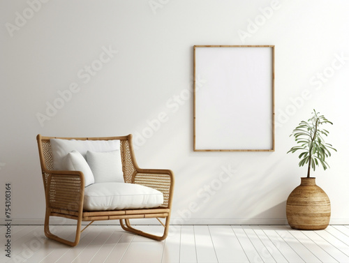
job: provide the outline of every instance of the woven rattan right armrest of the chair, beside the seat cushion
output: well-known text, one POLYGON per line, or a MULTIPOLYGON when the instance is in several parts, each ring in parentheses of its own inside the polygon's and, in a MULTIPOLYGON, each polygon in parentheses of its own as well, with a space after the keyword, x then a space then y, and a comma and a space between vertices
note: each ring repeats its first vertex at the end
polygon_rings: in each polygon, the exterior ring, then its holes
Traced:
POLYGON ((133 174, 132 183, 154 188, 163 193, 162 207, 171 208, 174 190, 174 174, 171 170, 137 169, 133 174))

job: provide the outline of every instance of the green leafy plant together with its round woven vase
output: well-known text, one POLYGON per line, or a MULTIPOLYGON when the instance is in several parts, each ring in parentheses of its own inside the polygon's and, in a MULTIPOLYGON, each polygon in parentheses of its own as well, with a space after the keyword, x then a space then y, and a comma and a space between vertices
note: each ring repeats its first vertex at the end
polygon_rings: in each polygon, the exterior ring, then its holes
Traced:
POLYGON ((329 132, 322 128, 323 124, 333 124, 319 112, 313 110, 308 121, 301 121, 290 136, 295 137, 297 146, 288 153, 301 151, 299 167, 307 165, 306 177, 301 184, 290 193, 286 202, 286 216, 290 227, 300 230, 323 230, 329 224, 331 204, 325 191, 315 184, 315 177, 310 171, 321 165, 324 170, 329 168, 326 158, 331 156, 330 150, 336 151, 331 144, 325 143, 323 137, 329 132))

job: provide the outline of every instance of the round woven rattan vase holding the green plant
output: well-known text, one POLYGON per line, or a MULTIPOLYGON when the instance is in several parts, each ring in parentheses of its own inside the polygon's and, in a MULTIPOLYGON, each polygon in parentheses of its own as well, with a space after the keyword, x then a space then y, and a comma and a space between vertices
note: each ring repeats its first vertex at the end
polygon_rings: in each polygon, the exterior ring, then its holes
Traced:
POLYGON ((286 202, 290 227, 297 230, 324 230, 329 224, 331 204, 325 191, 315 184, 315 177, 302 177, 301 184, 286 202))

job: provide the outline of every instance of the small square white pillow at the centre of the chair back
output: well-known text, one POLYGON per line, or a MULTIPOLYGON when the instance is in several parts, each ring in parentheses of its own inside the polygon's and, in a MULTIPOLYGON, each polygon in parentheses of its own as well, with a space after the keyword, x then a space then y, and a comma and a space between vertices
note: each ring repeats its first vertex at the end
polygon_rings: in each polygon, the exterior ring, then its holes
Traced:
POLYGON ((94 174, 95 183, 124 183, 120 150, 104 152, 87 151, 86 158, 94 174))

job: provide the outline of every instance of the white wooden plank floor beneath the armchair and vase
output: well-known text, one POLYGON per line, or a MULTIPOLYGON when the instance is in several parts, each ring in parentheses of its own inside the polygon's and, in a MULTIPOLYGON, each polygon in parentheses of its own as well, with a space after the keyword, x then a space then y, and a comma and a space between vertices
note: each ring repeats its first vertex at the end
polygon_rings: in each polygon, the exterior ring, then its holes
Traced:
MULTIPOLYGON (((160 232, 160 226, 139 226, 160 232)), ((43 236, 43 226, 12 227, 11 258, 3 250, 6 227, 0 227, 0 262, 349 262, 349 226, 299 231, 285 225, 173 225, 165 241, 153 241, 116 225, 90 226, 71 248, 43 236)), ((72 237, 73 226, 52 232, 72 237)))

